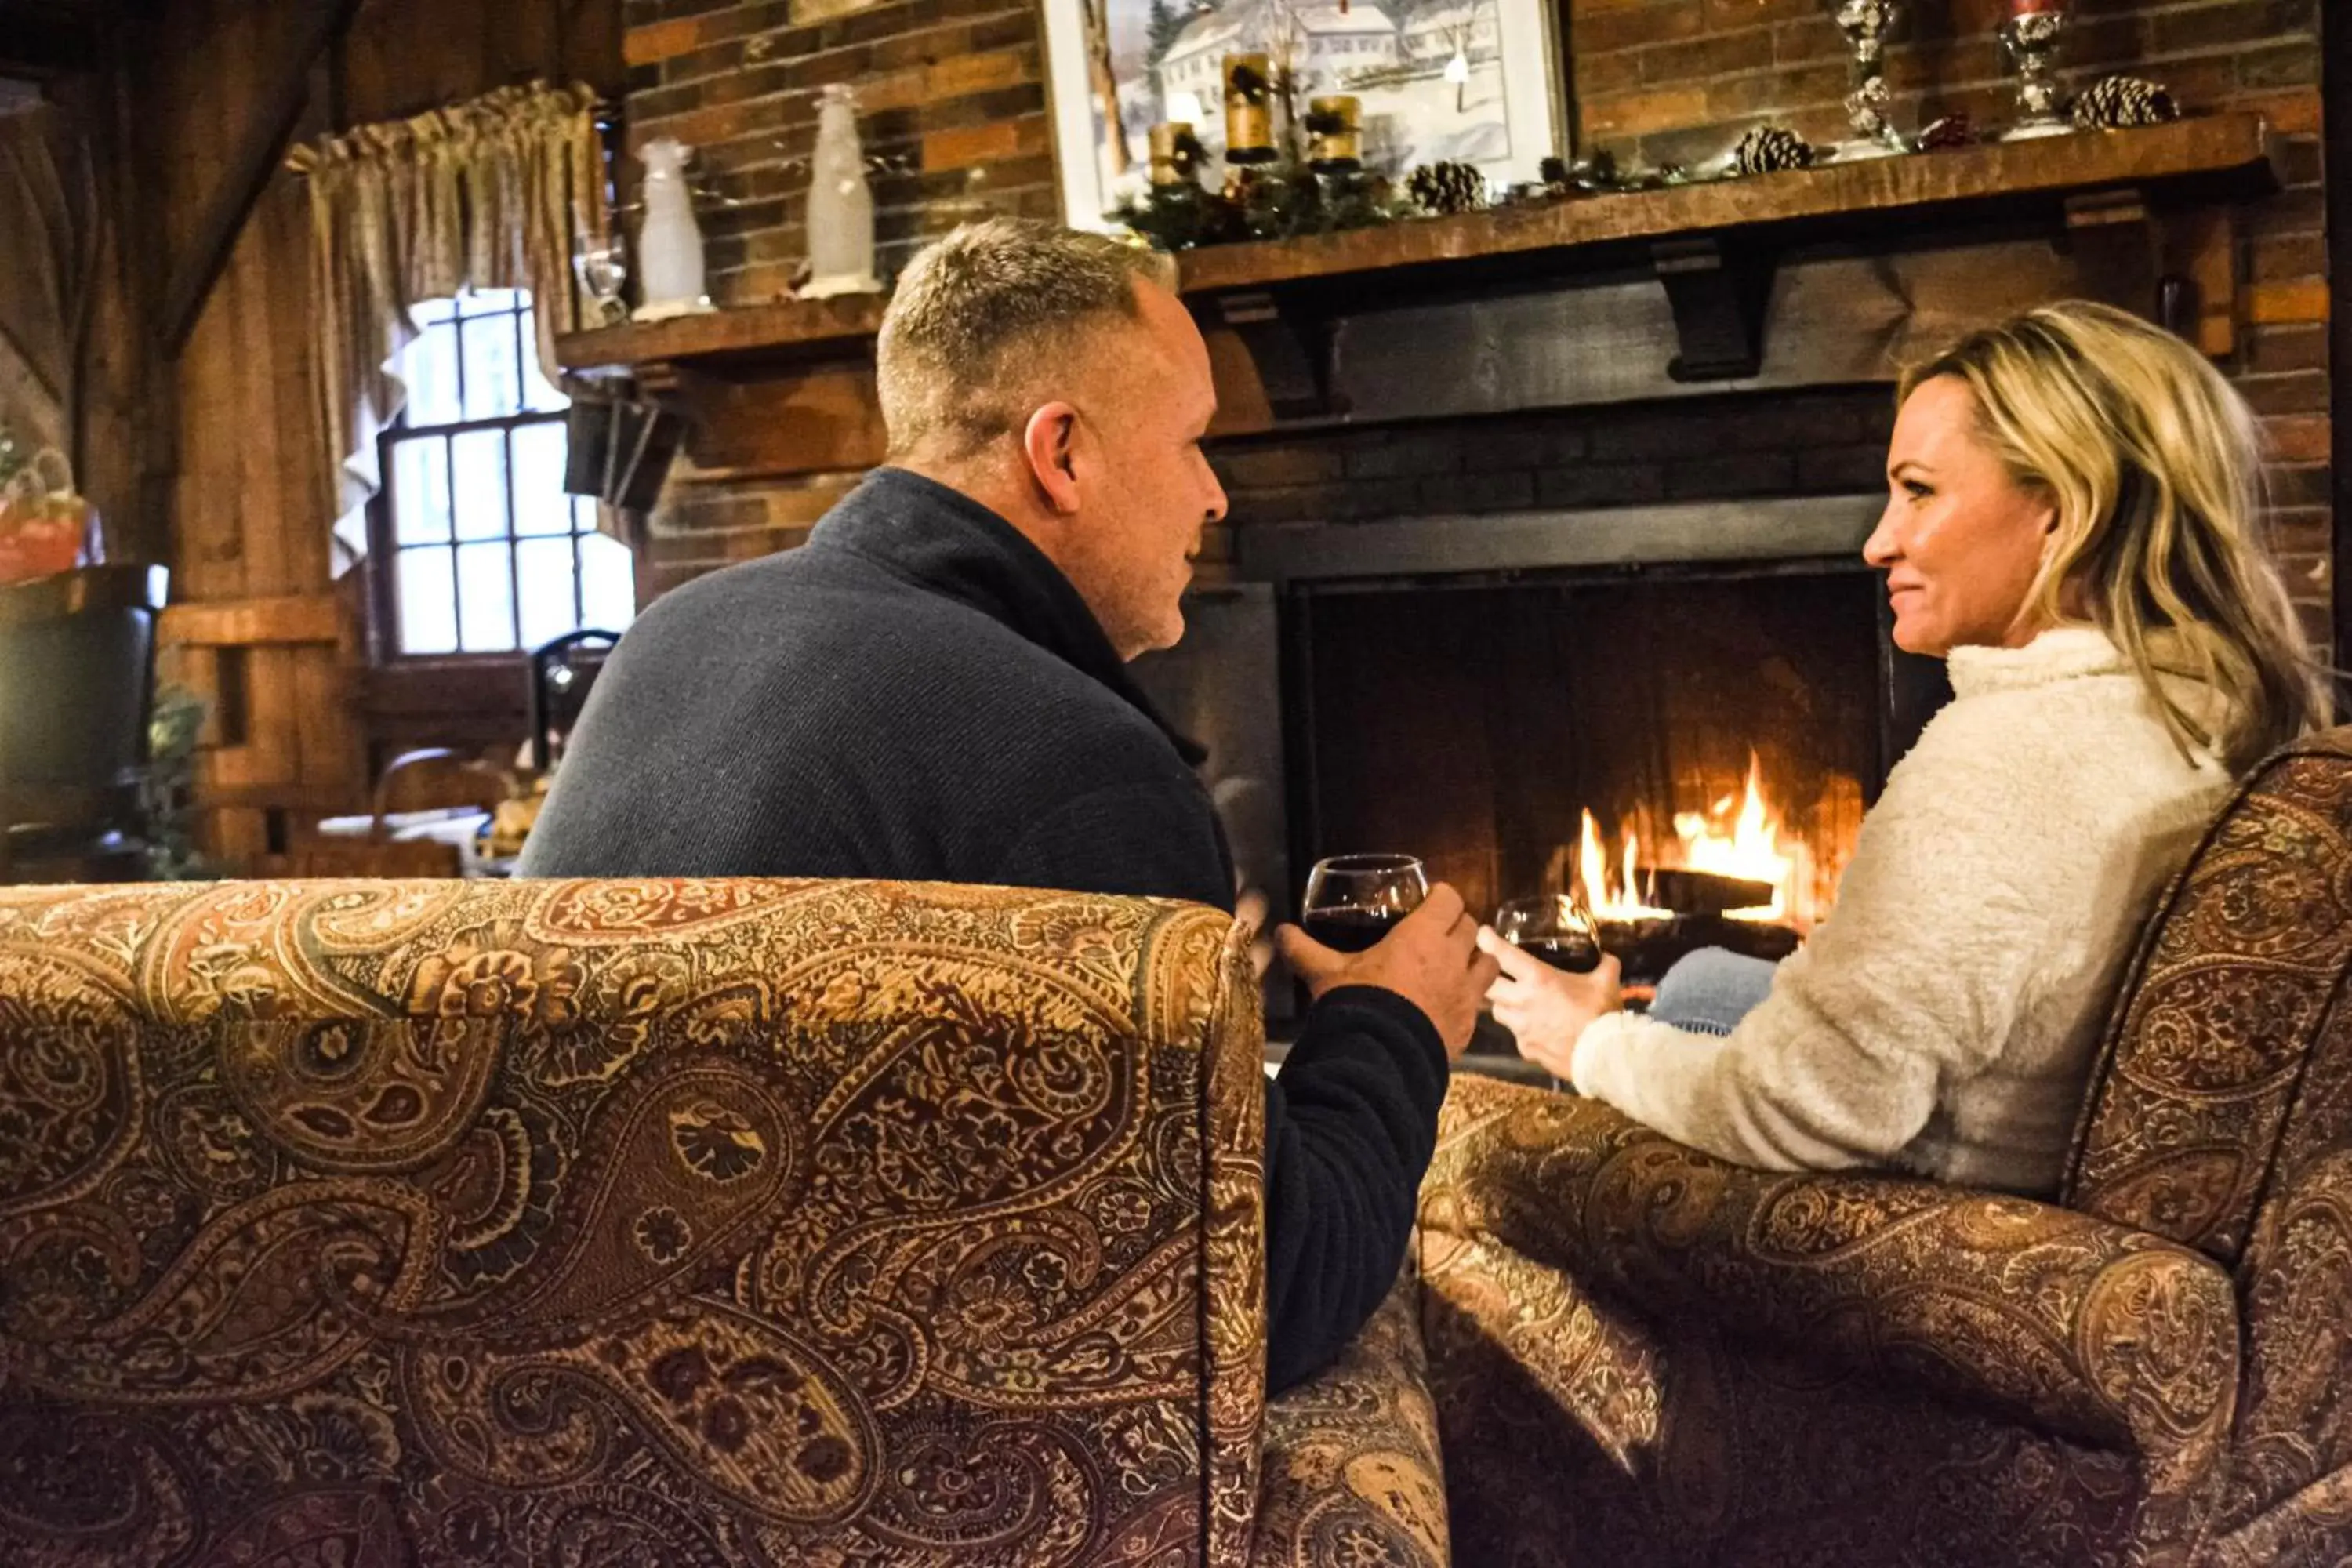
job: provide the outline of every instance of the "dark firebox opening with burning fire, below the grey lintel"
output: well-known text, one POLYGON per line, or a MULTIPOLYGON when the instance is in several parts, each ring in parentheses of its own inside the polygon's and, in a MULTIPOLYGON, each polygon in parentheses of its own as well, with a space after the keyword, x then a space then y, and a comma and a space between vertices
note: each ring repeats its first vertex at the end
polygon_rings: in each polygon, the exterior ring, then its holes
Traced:
POLYGON ((1708 870, 1804 933, 1889 764, 1877 607, 1844 562, 1296 585, 1291 863, 1399 849, 1479 914, 1576 891, 1623 919, 1651 870, 1708 870))

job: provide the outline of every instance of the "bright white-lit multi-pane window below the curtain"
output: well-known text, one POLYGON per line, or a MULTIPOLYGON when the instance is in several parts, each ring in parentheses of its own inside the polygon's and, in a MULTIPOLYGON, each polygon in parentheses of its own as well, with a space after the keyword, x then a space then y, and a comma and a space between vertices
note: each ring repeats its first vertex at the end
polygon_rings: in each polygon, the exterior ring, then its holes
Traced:
POLYGON ((635 616, 628 545, 564 494, 564 395, 539 374, 532 296, 419 306, 383 433, 376 562, 390 656, 515 654, 635 616))

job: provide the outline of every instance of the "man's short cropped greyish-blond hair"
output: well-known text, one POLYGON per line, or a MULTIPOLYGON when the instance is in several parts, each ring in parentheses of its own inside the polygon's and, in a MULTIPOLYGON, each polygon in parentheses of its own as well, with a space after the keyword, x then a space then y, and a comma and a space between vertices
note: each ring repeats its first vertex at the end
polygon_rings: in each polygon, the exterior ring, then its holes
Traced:
POLYGON ((908 263, 882 313, 875 383, 889 456, 962 458, 1021 428, 1042 371, 1108 320, 1136 320, 1136 280, 1176 284, 1157 252, 1037 219, 964 223, 908 263))

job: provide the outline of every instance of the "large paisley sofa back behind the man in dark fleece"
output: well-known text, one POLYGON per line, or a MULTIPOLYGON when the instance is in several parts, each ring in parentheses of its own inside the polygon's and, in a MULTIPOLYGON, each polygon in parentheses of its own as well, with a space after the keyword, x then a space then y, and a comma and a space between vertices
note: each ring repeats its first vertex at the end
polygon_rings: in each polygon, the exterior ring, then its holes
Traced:
POLYGON ((1263 1081, 1228 924, 0 893, 0 1561, 1230 1556, 1263 1081))

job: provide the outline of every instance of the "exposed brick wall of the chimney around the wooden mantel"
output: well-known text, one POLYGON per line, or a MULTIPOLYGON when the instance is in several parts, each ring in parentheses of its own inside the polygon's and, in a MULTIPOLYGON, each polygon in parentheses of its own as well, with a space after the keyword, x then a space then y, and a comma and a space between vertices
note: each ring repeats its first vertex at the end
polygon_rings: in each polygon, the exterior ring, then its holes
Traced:
MULTIPOLYGON (((1835 139, 1842 40, 1820 0, 1562 0, 1578 146, 1689 160, 1764 120, 1835 139)), ((1999 120, 1999 0, 1915 0, 1891 56, 1905 122, 1999 120)), ((2328 381, 2319 188, 2319 0, 2077 0, 2067 68, 2140 71, 2192 113, 2251 108, 2284 136, 2286 190, 2237 214, 2237 334, 2223 367, 2272 442, 2277 543, 2328 635, 2328 381)), ((1054 216, 1033 5, 1004 0, 628 0, 628 141, 701 148, 713 296, 771 299, 804 252, 800 179, 816 89, 854 82, 875 153, 917 172, 875 188, 884 270, 983 212, 1054 216)), ((1301 430, 1216 444, 1232 527, 1479 515, 1870 489, 1886 386, 1726 393, 1536 414, 1301 430), (1693 456, 1696 454, 1696 456, 1693 456)), ((682 463, 652 527, 659 592, 795 545, 854 473, 682 463)), ((1230 541, 1211 559, 1230 559, 1230 541)))

